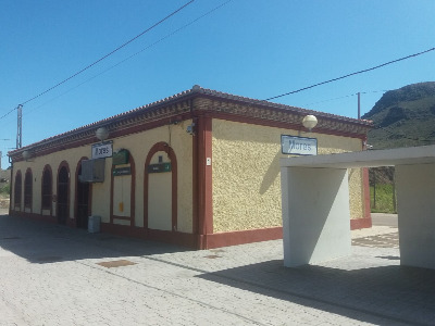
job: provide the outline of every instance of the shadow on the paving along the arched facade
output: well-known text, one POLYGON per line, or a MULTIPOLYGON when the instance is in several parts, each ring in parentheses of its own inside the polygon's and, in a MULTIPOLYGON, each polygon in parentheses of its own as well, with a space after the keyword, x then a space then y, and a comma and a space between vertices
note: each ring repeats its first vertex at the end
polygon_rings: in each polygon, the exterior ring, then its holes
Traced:
POLYGON ((64 225, 8 215, 0 215, 1 250, 38 264, 189 251, 162 242, 89 234, 64 225))

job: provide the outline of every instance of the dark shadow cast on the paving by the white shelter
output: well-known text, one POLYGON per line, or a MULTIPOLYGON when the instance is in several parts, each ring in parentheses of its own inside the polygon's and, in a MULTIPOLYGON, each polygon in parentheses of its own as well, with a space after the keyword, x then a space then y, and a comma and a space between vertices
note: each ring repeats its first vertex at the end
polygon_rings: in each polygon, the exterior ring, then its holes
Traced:
POLYGON ((355 271, 314 265, 287 268, 276 260, 197 277, 361 322, 435 323, 432 269, 397 265, 355 271))

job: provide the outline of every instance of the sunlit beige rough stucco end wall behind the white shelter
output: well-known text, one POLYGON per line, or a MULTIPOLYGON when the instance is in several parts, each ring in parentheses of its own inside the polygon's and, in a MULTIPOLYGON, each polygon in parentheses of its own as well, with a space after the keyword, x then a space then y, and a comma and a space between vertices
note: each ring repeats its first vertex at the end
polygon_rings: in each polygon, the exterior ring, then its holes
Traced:
MULTIPOLYGON (((213 120, 213 231, 282 225, 281 135, 298 131, 213 120)), ((361 140, 302 133, 318 138, 319 154, 359 151, 361 140)), ((351 218, 362 217, 361 171, 350 173, 351 218)))

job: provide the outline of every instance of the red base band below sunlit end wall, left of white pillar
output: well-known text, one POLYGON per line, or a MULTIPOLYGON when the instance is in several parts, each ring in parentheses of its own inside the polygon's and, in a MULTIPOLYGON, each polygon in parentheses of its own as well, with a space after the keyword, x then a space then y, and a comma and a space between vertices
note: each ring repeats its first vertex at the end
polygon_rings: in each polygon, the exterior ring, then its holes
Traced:
POLYGON ((283 228, 278 226, 251 230, 219 233, 206 235, 202 237, 204 237, 204 241, 207 243, 206 248, 203 249, 213 249, 220 247, 282 239, 283 228))

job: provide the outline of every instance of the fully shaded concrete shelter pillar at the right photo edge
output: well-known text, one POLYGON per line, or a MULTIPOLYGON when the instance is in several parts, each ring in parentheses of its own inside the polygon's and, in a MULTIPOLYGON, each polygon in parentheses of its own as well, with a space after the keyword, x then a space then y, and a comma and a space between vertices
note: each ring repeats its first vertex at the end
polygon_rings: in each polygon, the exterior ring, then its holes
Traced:
POLYGON ((435 268, 435 164, 396 165, 400 264, 435 268))

